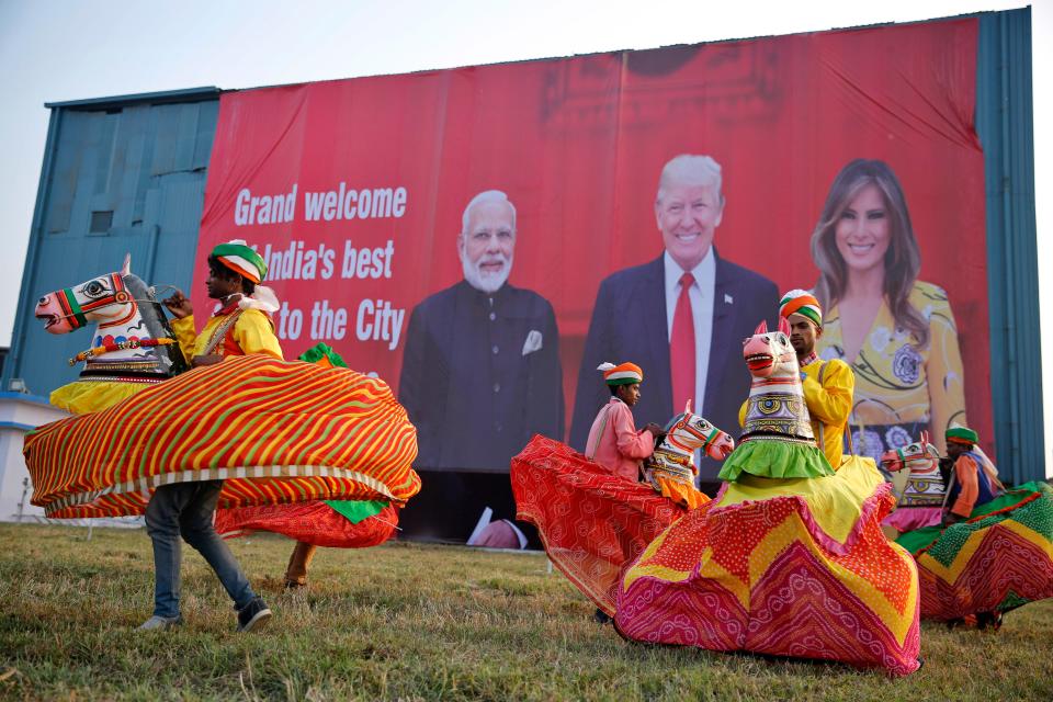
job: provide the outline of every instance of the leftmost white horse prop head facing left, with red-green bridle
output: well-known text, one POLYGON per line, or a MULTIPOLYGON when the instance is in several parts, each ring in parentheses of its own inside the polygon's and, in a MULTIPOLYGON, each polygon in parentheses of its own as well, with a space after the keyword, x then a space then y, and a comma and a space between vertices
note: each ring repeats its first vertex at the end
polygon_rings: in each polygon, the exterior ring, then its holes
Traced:
POLYGON ((120 271, 43 295, 35 316, 49 333, 69 333, 95 322, 92 348, 70 359, 84 361, 81 376, 170 376, 186 370, 168 318, 124 257, 120 271))

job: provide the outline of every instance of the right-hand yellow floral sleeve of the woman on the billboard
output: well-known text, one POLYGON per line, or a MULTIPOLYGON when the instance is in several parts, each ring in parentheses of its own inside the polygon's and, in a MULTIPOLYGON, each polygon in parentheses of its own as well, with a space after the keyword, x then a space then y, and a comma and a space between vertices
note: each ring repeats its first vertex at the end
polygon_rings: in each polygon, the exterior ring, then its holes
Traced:
POLYGON ((929 359, 925 375, 929 390, 929 412, 937 448, 947 450, 943 434, 951 424, 967 426, 962 352, 958 346, 958 326, 947 294, 936 288, 929 317, 929 359))

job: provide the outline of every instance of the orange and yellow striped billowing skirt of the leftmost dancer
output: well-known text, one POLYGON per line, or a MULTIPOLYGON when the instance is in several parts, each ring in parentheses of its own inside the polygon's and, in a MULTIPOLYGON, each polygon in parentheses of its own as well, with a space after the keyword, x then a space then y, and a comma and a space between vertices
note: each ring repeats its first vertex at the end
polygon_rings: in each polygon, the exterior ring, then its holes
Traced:
POLYGON ((159 485, 225 479, 218 507, 420 489, 417 435, 383 381, 260 353, 45 424, 24 453, 48 517, 139 514, 159 485))

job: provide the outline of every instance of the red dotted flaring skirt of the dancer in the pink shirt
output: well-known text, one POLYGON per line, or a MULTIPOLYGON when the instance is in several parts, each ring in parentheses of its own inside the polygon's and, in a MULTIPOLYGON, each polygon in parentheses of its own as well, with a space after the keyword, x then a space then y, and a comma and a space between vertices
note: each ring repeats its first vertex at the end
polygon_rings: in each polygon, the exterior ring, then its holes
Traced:
POLYGON ((512 458, 511 479, 518 518, 537 528, 552 563, 612 615, 622 571, 684 513, 650 486, 541 435, 512 458))

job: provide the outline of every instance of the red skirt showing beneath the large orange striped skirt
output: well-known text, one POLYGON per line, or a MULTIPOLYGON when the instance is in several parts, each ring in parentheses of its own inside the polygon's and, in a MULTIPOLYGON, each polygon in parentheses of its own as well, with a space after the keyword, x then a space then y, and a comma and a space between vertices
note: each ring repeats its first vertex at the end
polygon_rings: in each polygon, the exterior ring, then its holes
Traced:
POLYGON ((352 524, 325 502, 268 505, 216 510, 216 533, 224 539, 270 531, 315 546, 367 548, 377 546, 395 532, 398 510, 388 505, 377 514, 352 524))

